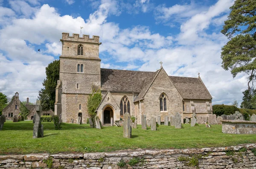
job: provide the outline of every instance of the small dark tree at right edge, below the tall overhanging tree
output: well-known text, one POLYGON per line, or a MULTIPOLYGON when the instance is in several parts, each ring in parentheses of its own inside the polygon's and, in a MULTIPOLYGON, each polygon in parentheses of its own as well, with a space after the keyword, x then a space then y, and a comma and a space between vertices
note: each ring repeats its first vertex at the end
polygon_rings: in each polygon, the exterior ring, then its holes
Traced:
POLYGON ((243 92, 244 97, 241 102, 241 108, 243 109, 256 109, 255 101, 256 101, 256 90, 249 88, 243 92))

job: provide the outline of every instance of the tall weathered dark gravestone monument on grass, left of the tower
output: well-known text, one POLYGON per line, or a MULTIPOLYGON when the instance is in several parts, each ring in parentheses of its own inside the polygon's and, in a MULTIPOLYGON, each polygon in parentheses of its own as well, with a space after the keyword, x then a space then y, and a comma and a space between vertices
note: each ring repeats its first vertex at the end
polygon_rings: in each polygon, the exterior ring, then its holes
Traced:
POLYGON ((33 138, 41 138, 44 137, 44 128, 43 125, 41 125, 41 112, 42 112, 42 106, 41 101, 37 101, 35 105, 35 115, 33 118, 33 138))

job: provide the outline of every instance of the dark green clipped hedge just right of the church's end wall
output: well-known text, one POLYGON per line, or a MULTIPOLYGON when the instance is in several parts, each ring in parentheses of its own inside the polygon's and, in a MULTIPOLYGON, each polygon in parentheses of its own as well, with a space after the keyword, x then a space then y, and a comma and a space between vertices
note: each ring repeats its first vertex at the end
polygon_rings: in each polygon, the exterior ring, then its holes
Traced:
MULTIPOLYGON (((234 114, 236 111, 239 111, 239 108, 236 106, 229 106, 224 104, 215 104, 212 106, 212 113, 215 115, 230 115, 234 114)), ((240 112, 240 111, 239 111, 240 112)))

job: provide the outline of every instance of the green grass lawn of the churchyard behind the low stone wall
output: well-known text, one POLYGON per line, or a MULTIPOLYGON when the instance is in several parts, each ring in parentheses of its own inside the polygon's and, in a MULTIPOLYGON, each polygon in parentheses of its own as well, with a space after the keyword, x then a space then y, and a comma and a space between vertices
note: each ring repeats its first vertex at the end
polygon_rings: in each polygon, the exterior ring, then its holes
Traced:
POLYGON ((62 124, 54 130, 52 122, 43 122, 44 138, 32 138, 32 121, 6 121, 0 130, 0 155, 59 152, 104 152, 119 149, 169 149, 231 146, 256 143, 256 135, 221 132, 221 125, 206 128, 204 124, 182 129, 161 125, 157 131, 132 129, 132 138, 123 138, 122 127, 90 128, 89 124, 62 124))

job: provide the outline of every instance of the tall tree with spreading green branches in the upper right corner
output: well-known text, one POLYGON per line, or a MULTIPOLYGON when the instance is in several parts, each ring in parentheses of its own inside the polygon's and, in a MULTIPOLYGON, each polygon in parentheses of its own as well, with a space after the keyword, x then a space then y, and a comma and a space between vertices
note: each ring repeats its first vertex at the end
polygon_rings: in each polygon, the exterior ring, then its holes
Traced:
POLYGON ((248 87, 256 78, 256 0, 236 0, 221 33, 230 41, 222 48, 222 68, 248 75, 248 87), (235 37, 233 37, 235 36, 235 37))

